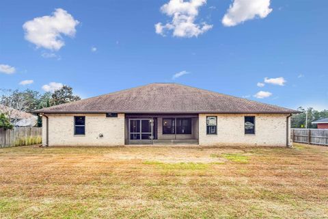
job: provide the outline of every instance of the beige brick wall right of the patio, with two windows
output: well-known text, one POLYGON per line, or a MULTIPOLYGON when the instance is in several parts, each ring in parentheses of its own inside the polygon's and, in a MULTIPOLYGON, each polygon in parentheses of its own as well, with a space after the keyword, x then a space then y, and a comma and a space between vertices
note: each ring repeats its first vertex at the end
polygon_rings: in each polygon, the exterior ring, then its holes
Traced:
POLYGON ((200 114, 199 142, 202 146, 286 146, 287 116, 288 114, 200 114), (217 135, 206 135, 206 116, 217 116, 217 135), (245 135, 244 116, 256 116, 255 135, 245 135))

